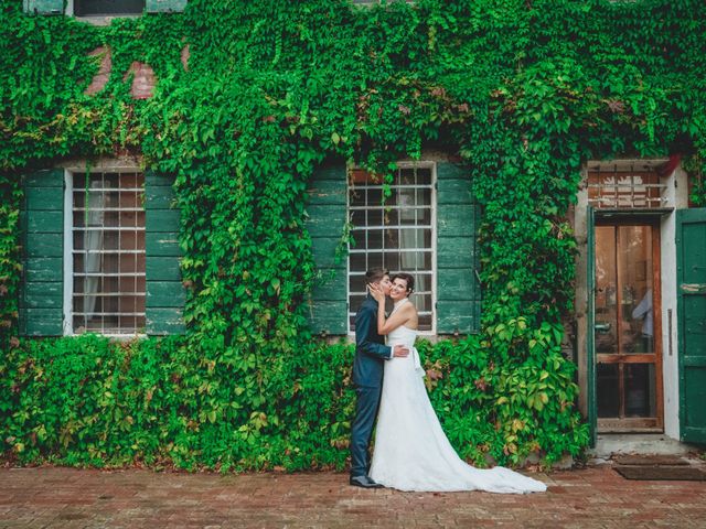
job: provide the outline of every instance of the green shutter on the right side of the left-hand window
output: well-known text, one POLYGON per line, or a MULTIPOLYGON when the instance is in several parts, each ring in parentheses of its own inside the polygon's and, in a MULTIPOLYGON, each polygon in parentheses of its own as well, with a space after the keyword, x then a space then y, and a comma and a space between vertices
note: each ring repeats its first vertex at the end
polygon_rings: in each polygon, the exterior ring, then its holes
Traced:
POLYGON ((145 174, 145 250, 147 274, 147 334, 184 332, 183 310, 186 292, 179 260, 179 209, 173 207, 172 176, 145 174))

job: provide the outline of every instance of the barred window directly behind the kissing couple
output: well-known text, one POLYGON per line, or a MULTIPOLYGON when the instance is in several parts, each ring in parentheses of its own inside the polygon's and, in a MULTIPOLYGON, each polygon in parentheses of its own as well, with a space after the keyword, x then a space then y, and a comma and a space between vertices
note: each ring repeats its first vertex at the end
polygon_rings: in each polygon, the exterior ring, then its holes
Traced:
POLYGON ((419 311, 419 330, 435 327, 435 166, 400 164, 383 202, 382 177, 362 170, 349 174, 349 324, 365 298, 365 271, 387 268, 415 278, 411 296, 419 311))

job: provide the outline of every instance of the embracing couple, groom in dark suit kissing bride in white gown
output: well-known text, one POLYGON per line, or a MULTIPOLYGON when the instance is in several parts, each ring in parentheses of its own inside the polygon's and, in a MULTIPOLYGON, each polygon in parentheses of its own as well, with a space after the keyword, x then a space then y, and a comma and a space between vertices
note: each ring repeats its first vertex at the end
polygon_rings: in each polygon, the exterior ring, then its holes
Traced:
POLYGON ((386 270, 376 268, 365 273, 365 283, 368 293, 355 316, 357 401, 351 428, 351 485, 418 492, 546 490, 544 483, 509 468, 474 468, 458 456, 431 407, 414 347, 418 326, 417 310, 409 301, 414 278, 397 273, 391 280, 386 270), (389 315, 385 314, 387 295, 394 302, 389 315))

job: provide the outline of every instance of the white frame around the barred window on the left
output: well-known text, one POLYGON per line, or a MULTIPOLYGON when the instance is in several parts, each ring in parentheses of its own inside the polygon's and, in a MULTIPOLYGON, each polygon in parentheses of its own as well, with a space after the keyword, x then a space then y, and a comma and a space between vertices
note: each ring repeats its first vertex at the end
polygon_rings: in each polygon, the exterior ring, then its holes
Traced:
MULTIPOLYGON (((82 334, 76 334, 73 325, 74 321, 74 174, 85 174, 86 171, 93 173, 139 173, 145 174, 145 171, 140 169, 138 165, 128 164, 125 165, 120 162, 103 162, 99 163, 98 166, 90 166, 87 170, 86 166, 76 166, 73 165, 71 168, 64 168, 64 295, 63 295, 63 304, 64 304, 64 321, 63 321, 63 333, 64 336, 82 336, 82 334)), ((143 183, 145 190, 145 183, 143 183)), ((145 210, 145 209, 143 209, 145 210)), ((146 212, 147 214, 147 212, 146 212)), ((145 235, 147 241, 147 226, 145 227, 145 235)), ((146 248, 147 253, 147 248, 146 248)), ((101 274, 103 276, 103 274, 101 274)), ((133 276, 130 273, 129 276, 133 276)), ((145 298, 147 302, 147 270, 145 273, 145 298)), ((147 312, 147 310, 146 310, 147 312)), ((146 315, 147 317, 147 315, 146 315)), ((146 322, 147 323, 147 322, 146 322)), ((147 325, 146 325, 147 326, 147 325)), ((107 336, 116 339, 131 339, 135 337, 145 337, 146 333, 139 332, 125 332, 125 333, 98 333, 95 331, 90 331, 95 334, 100 334, 101 336, 107 336)))

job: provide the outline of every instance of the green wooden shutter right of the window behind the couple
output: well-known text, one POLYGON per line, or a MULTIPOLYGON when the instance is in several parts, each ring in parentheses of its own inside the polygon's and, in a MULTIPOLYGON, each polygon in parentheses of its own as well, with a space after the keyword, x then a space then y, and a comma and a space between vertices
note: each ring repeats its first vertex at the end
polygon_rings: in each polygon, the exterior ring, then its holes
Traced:
POLYGON ((437 164, 437 333, 478 333, 481 288, 477 234, 480 209, 470 171, 437 164))

